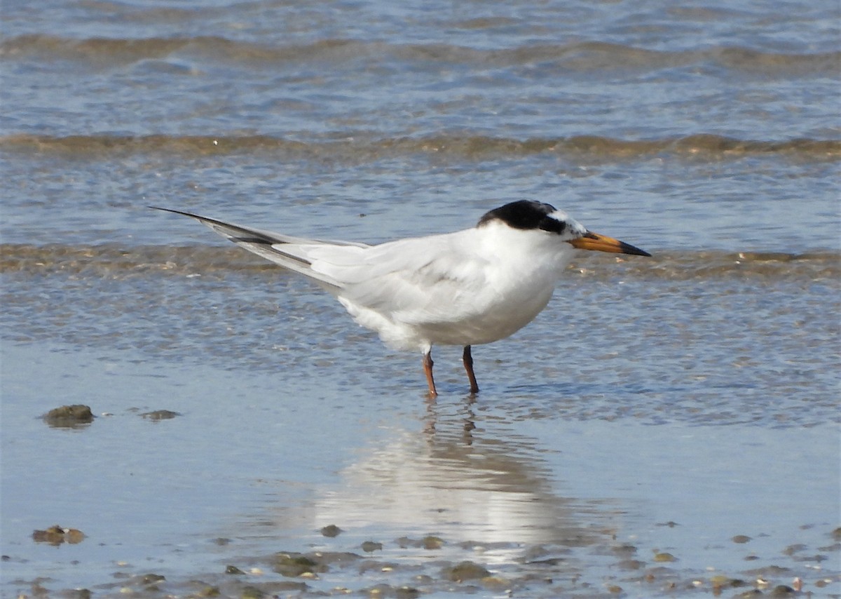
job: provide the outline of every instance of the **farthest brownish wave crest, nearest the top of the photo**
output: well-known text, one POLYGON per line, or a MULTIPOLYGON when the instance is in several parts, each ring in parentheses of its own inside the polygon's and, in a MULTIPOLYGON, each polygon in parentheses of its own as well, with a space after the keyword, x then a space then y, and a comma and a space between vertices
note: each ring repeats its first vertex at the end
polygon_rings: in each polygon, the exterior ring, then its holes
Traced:
POLYGON ((516 48, 478 49, 463 45, 393 44, 377 40, 326 39, 297 45, 265 45, 229 40, 214 35, 175 38, 71 38, 27 34, 0 43, 6 60, 39 57, 42 60, 74 60, 92 66, 124 65, 161 59, 179 52, 243 63, 312 62, 345 63, 369 61, 440 62, 476 67, 506 67, 550 64, 569 72, 616 72, 617 69, 651 70, 711 63, 739 72, 763 75, 779 72, 788 76, 825 74, 838 77, 841 52, 782 54, 716 46, 701 50, 648 50, 600 41, 570 44, 536 44, 516 48))

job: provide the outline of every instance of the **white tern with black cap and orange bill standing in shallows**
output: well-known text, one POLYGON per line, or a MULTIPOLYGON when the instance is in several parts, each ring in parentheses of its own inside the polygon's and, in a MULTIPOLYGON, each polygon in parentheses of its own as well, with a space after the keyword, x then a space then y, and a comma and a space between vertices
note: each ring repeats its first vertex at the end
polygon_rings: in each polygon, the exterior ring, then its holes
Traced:
POLYGON ((330 292, 354 321, 389 347, 420 350, 431 397, 432 346, 464 347, 470 392, 478 393, 470 347, 509 337, 549 302, 574 249, 650 256, 587 231, 563 210, 520 200, 463 231, 368 245, 322 241, 190 216, 330 292))

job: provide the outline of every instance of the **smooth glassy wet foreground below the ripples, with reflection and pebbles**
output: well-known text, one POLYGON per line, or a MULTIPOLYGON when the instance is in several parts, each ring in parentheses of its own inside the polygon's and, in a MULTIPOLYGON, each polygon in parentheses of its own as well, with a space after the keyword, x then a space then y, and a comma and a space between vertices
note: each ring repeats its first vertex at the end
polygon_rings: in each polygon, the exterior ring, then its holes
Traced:
POLYGON ((50 364, 56 388, 29 410, 61 388, 98 399, 81 429, 6 408, 3 434, 19 427, 24 439, 4 450, 4 510, 16 514, 4 526, 7 591, 832 596, 841 586, 831 425, 740 425, 723 412, 729 426, 712 413, 706 425, 657 425, 645 404, 584 416, 554 394, 536 405, 539 384, 436 402, 409 392, 395 403, 395 388, 354 406, 329 379, 279 392, 272 374, 195 363, 49 346, 3 358, 13 394, 50 364), (143 416, 161 406, 180 416, 143 416), (85 538, 32 538, 56 523, 85 538))

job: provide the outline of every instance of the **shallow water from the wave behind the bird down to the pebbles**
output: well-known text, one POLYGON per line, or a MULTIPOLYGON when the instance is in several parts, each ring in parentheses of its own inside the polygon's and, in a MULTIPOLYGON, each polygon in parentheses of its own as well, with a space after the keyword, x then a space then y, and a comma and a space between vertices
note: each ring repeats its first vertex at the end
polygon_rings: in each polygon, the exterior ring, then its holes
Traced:
POLYGON ((832 255, 579 261, 537 321, 474 349, 478 398, 458 351, 438 348, 430 403, 417 357, 236 250, 4 248, 14 589, 49 575, 118 593, 148 572, 170 592, 224 589, 231 563, 262 583, 283 579, 274 552, 367 540, 383 543, 373 570, 333 567, 308 592, 446 593, 416 577, 463 559, 533 596, 709 589, 772 566, 788 569, 769 570, 777 584, 837 576, 832 255), (108 416, 72 431, 37 417, 74 403, 108 416), (158 409, 181 416, 140 416, 158 409), (55 522, 89 538, 31 541, 55 522), (345 532, 323 538, 331 523, 345 532), (399 541, 430 534, 441 549, 399 541), (655 549, 679 561, 641 581, 655 549))

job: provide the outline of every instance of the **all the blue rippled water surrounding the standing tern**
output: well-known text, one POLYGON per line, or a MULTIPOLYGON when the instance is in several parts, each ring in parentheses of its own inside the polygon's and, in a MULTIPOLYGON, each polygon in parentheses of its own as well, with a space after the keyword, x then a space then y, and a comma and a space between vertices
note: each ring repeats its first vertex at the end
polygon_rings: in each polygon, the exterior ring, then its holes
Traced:
POLYGON ((0 595, 838 595, 839 12, 3 3, 0 595), (524 197, 653 258, 579 257, 474 348, 476 398, 436 348, 435 402, 418 356, 146 208, 385 241, 524 197), (357 557, 274 571, 312 551, 357 557), (442 580, 464 559, 493 576, 442 580))

